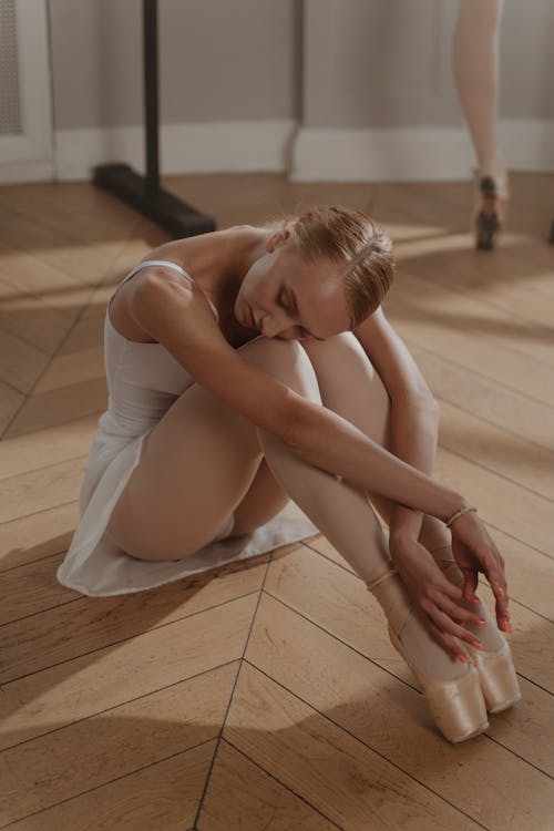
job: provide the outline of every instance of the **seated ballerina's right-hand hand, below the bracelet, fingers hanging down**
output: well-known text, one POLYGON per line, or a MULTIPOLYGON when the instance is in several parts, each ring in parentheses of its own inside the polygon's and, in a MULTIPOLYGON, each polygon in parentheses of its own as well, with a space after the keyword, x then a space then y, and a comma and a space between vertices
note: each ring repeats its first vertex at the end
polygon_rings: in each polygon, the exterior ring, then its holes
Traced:
POLYGON ((450 525, 452 554, 463 574, 463 596, 475 597, 479 572, 483 572, 496 599, 496 622, 500 629, 509 629, 507 585, 504 560, 483 523, 470 511, 450 525))

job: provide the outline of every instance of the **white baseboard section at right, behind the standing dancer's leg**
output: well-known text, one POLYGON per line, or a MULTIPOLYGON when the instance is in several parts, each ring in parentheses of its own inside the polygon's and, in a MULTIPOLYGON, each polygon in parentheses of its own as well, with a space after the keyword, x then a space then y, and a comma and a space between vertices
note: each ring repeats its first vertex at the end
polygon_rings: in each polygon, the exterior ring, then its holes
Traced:
MULTIPOLYGON (((554 122, 501 122, 512 170, 554 170, 554 122)), ((475 166, 463 127, 394 130, 300 129, 293 147, 294 182, 463 179, 475 166)))

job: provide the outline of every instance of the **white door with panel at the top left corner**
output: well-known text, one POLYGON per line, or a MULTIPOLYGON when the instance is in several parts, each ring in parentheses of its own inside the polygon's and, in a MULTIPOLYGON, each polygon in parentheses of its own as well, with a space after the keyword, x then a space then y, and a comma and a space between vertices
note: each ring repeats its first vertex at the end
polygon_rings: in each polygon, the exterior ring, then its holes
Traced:
POLYGON ((0 183, 51 178, 47 0, 0 0, 0 183))

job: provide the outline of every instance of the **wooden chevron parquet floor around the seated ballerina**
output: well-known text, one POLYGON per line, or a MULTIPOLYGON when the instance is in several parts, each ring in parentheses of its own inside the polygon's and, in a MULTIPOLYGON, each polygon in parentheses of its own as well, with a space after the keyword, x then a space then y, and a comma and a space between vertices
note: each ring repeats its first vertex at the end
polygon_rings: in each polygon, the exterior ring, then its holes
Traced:
POLYGON ((321 536, 134 595, 59 585, 106 403, 105 302, 166 237, 88 183, 4 186, 0 827, 552 829, 554 174, 514 175, 510 230, 485 254, 468 183, 167 186, 219 227, 317 202, 384 224, 400 264, 384 308, 441 406, 435 476, 479 505, 505 557, 524 697, 485 735, 441 739, 321 536))

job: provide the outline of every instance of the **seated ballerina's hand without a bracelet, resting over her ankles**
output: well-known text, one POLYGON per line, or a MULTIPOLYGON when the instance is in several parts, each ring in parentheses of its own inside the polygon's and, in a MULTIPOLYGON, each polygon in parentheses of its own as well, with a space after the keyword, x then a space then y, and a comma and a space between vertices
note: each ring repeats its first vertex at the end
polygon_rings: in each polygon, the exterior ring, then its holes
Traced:
POLYGON ((429 633, 448 652, 465 661, 466 655, 455 638, 479 643, 462 624, 479 624, 480 615, 459 605, 458 602, 463 599, 462 589, 448 579, 432 555, 413 536, 391 535, 389 550, 429 633))

